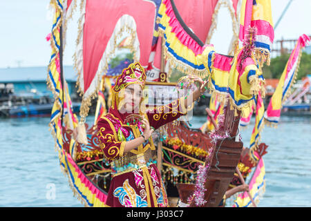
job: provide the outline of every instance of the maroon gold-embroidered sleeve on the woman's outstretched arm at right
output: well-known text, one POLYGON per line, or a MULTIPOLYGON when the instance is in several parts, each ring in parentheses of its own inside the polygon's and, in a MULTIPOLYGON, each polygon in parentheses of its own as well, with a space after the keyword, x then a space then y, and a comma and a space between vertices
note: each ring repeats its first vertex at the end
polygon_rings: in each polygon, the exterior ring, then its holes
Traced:
POLYGON ((186 115, 189 109, 185 106, 185 97, 176 99, 171 104, 158 106, 147 111, 150 126, 158 129, 160 126, 186 115))

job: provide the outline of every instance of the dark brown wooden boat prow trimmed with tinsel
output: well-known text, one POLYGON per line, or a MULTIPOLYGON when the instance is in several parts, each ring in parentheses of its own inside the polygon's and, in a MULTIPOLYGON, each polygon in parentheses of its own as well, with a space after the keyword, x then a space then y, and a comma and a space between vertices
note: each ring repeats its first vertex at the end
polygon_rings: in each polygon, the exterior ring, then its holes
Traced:
MULTIPOLYGON (((237 111, 237 115, 234 116, 234 110, 227 108, 225 114, 225 130, 229 132, 229 137, 216 140, 214 151, 211 153, 211 166, 207 171, 207 179, 204 185, 206 189, 204 196, 206 203, 202 205, 204 207, 219 206, 232 181, 232 177, 234 177, 236 166, 243 151, 243 142, 236 139, 238 137, 240 116, 240 111, 237 111)), ((190 199, 196 197, 194 195, 196 189, 195 184, 177 184, 176 186, 182 203, 187 204, 189 197, 190 199)), ((195 200, 191 200, 189 206, 197 207, 198 205, 196 205, 195 200)))

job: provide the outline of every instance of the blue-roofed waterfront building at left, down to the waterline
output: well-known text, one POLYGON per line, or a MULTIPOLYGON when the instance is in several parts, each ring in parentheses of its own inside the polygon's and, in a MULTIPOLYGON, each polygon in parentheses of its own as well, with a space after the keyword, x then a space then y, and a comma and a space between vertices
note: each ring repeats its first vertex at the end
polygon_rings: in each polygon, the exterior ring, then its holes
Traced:
MULTIPOLYGON (((64 66, 64 77, 73 102, 79 111, 75 87, 77 75, 73 66, 64 66)), ((48 88, 48 67, 0 68, 0 117, 49 116, 54 96, 48 88)))

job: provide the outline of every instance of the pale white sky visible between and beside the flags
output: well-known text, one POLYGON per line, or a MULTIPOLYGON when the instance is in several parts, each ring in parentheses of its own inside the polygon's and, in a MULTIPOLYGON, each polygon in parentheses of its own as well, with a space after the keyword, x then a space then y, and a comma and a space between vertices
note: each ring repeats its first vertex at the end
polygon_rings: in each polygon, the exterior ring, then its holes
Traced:
MULTIPOLYGON (((288 1, 271 0, 274 23, 281 16, 288 1)), ((48 65, 51 50, 45 37, 52 26, 52 19, 48 16, 49 2, 50 0, 0 1, 0 68, 48 65)), ((80 0, 77 1, 78 6, 79 2, 80 0)), ((64 65, 73 65, 78 17, 79 7, 68 23, 64 65)), ((293 0, 276 27, 274 41, 281 38, 298 39, 302 34, 311 35, 310 21, 311 1, 293 0)), ((217 52, 226 54, 231 38, 232 20, 227 8, 221 8, 211 44, 214 44, 217 52)))

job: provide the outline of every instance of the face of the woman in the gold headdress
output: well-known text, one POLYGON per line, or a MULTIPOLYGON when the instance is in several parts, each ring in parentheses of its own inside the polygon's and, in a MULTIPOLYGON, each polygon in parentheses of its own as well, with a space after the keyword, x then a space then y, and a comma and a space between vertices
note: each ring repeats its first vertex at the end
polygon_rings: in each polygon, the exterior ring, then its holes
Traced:
POLYGON ((126 113, 138 113, 142 99, 142 88, 139 84, 130 84, 124 89, 124 109, 126 113))

